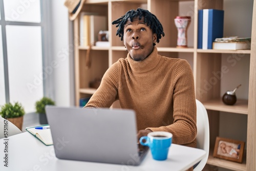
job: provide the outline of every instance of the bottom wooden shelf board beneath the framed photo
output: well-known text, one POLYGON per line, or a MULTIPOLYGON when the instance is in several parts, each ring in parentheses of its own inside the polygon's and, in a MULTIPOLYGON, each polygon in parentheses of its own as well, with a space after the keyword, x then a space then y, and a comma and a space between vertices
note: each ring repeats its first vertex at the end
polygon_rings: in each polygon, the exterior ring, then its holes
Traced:
POLYGON ((246 171, 246 159, 243 160, 243 163, 236 163, 233 161, 215 158, 212 154, 213 152, 209 153, 207 164, 231 170, 246 171))

